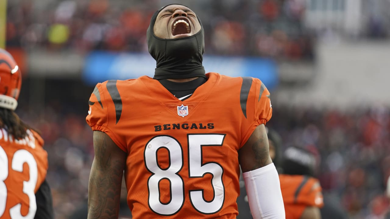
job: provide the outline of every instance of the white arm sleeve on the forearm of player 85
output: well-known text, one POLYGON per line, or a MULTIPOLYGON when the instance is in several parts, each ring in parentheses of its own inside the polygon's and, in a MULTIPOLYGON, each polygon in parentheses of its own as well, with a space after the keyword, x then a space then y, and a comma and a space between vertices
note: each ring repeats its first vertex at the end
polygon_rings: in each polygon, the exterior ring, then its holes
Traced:
POLYGON ((278 172, 273 163, 243 173, 254 219, 285 219, 278 172))

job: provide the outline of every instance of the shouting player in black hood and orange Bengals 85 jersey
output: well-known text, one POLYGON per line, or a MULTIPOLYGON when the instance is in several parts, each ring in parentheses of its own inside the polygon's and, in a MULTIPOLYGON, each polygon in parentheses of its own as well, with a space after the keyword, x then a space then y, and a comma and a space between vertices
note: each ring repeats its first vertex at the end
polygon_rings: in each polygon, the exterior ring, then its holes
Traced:
POLYGON ((147 43, 154 78, 106 81, 91 94, 88 219, 117 218, 123 171, 135 219, 235 219, 239 165, 254 218, 285 218, 264 84, 205 74, 204 30, 184 5, 156 11, 147 43))

